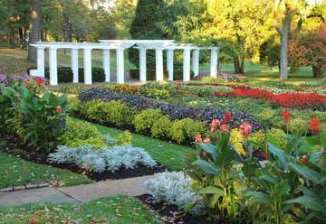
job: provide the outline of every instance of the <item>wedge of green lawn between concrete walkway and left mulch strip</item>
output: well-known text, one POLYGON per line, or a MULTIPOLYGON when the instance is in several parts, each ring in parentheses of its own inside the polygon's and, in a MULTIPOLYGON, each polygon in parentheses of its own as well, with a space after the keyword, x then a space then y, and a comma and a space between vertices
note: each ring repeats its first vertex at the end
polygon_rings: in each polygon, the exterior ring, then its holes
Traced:
POLYGON ((0 188, 50 181, 61 182, 65 186, 91 183, 91 179, 82 174, 0 153, 0 188))

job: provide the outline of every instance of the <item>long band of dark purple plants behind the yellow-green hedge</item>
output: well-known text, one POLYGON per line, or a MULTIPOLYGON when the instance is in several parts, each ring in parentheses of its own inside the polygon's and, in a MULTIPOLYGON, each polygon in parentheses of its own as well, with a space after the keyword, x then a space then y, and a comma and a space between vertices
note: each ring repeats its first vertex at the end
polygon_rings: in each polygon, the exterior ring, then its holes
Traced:
MULTIPOLYGON (((224 109, 216 108, 197 108, 197 107, 181 107, 173 104, 159 102, 151 98, 144 98, 137 95, 119 94, 113 93, 108 89, 93 88, 82 91, 79 96, 82 102, 89 101, 91 99, 101 99, 105 102, 110 100, 120 100, 121 102, 136 107, 138 110, 148 108, 160 108, 163 114, 167 114, 171 120, 192 118, 198 121, 206 121, 208 124, 213 118, 222 120, 225 116, 224 109)), ((237 127, 246 122, 253 126, 254 130, 264 129, 264 126, 254 120, 253 117, 249 117, 242 111, 232 112, 232 126, 237 127)))

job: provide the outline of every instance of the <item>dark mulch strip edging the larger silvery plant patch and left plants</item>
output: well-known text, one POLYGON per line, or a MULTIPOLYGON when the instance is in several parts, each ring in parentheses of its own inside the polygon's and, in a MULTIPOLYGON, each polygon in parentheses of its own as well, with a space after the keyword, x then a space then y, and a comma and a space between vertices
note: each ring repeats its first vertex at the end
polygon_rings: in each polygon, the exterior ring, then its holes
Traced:
POLYGON ((43 152, 35 152, 33 148, 28 147, 24 144, 17 144, 13 137, 2 137, 3 143, 0 145, 0 152, 4 152, 7 154, 13 154, 14 156, 33 162, 33 163, 41 163, 46 165, 51 165, 53 167, 67 169, 72 171, 73 173, 81 173, 83 175, 88 176, 91 180, 100 182, 104 180, 119 180, 131 177, 138 177, 144 175, 151 175, 154 173, 165 172, 166 168, 163 165, 158 164, 158 166, 149 168, 142 164, 139 164, 134 169, 126 169, 121 168, 114 173, 110 171, 105 171, 103 173, 91 173, 87 172, 80 167, 70 164, 70 163, 50 163, 47 158, 47 154, 43 154, 43 152), (5 142, 5 144, 4 144, 5 142), (15 150, 15 149, 23 149, 23 150, 15 150))

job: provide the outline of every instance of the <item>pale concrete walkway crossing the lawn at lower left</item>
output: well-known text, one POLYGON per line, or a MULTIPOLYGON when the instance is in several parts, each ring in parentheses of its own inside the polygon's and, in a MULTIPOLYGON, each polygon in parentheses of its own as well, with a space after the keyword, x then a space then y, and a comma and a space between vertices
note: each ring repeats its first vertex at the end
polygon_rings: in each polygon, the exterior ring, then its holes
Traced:
POLYGON ((39 188, 0 193, 0 206, 22 205, 34 202, 85 203, 102 197, 117 195, 138 196, 146 193, 143 183, 153 175, 129 179, 95 182, 66 188, 39 188))

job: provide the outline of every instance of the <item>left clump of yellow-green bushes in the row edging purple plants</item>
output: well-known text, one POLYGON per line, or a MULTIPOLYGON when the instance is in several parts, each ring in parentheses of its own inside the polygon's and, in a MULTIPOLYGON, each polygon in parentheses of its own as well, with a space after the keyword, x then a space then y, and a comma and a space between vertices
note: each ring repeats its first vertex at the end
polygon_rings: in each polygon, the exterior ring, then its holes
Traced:
POLYGON ((104 102, 94 99, 85 104, 87 117, 113 126, 130 126, 135 110, 132 107, 112 100, 104 102))

